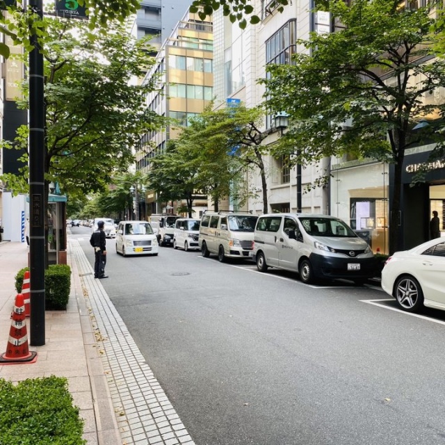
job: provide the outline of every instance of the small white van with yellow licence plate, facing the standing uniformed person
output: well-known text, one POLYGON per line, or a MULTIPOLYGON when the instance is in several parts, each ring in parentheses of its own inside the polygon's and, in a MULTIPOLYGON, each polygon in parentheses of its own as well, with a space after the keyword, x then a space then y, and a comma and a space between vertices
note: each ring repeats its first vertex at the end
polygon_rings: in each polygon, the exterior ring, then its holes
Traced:
POLYGON ((116 253, 123 257, 135 254, 158 254, 158 239, 147 221, 121 221, 116 234, 116 253))

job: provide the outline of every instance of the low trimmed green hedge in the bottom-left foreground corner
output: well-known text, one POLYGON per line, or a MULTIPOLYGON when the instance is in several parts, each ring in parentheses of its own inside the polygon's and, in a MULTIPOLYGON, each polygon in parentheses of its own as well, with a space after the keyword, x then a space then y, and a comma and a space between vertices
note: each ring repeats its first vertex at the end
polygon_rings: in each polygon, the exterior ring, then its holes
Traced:
POLYGON ((83 419, 67 379, 52 375, 17 385, 0 379, 0 444, 85 445, 83 419))

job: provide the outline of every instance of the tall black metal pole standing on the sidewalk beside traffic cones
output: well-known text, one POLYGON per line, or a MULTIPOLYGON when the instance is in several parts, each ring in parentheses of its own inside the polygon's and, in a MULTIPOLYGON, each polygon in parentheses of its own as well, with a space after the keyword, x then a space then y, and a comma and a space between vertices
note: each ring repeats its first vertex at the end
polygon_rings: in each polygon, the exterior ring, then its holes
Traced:
MULTIPOLYGON (((30 0, 29 6, 42 22, 43 1, 30 0)), ((31 33, 33 49, 29 53, 29 202, 30 236, 29 266, 31 291, 30 344, 44 345, 44 270, 45 238, 44 223, 47 203, 44 197, 44 96, 43 55, 38 37, 31 33)))

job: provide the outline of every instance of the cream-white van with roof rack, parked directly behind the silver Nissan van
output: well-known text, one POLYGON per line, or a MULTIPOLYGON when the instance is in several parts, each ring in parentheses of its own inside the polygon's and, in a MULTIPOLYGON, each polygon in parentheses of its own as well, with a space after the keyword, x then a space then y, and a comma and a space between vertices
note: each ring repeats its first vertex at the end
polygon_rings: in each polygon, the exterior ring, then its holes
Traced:
POLYGON ((205 211, 201 218, 198 243, 203 257, 218 254, 226 258, 251 259, 253 234, 258 216, 238 211, 205 211))

